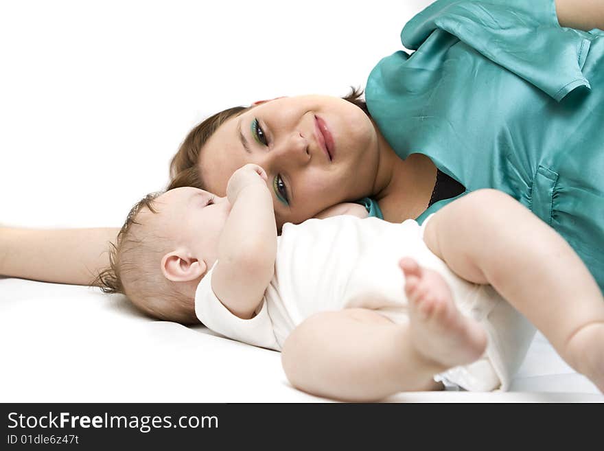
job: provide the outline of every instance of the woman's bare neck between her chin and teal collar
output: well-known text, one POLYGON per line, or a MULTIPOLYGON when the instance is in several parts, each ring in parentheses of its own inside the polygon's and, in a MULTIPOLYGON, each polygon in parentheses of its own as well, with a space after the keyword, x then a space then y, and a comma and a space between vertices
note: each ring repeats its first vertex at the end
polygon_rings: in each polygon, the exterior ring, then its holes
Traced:
POLYGON ((380 163, 373 198, 387 221, 417 218, 430 203, 437 167, 423 154, 410 154, 407 159, 400 159, 379 131, 377 141, 380 163))

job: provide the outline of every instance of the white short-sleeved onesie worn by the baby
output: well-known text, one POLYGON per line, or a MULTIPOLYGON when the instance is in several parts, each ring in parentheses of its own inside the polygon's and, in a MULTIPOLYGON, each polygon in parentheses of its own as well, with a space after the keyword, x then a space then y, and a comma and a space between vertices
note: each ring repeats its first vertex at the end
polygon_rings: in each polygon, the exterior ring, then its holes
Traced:
POLYGON ((507 390, 529 349, 535 328, 491 286, 454 275, 434 255, 415 220, 393 224, 377 218, 334 216, 285 224, 277 238, 275 275, 252 319, 240 319, 211 289, 211 270, 195 297, 198 319, 209 329, 251 345, 281 350, 292 330, 323 310, 362 307, 396 323, 408 322, 404 256, 437 270, 448 282, 458 309, 485 327, 489 342, 482 358, 452 368, 435 380, 472 391, 507 390))

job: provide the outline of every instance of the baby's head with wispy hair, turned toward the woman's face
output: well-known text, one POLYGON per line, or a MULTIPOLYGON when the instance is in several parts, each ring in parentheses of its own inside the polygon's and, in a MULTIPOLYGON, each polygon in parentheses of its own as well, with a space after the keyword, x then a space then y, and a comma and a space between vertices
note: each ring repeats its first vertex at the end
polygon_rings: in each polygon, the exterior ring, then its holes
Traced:
POLYGON ((195 290, 217 259, 231 205, 202 189, 149 194, 132 207, 111 245, 110 265, 95 279, 156 318, 198 323, 195 290))

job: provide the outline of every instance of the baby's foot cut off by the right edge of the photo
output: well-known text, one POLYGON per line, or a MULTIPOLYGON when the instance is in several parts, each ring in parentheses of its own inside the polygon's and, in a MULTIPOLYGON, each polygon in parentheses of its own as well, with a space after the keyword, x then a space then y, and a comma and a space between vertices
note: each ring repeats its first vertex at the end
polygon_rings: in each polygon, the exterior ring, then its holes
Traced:
POLYGON ((568 343, 572 367, 586 375, 604 393, 604 323, 579 329, 568 343))

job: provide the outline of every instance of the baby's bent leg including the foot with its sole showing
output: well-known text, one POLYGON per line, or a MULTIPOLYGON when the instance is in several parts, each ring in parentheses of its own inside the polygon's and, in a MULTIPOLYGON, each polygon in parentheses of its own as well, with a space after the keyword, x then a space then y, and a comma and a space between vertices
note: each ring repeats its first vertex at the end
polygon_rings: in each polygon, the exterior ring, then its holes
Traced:
POLYGON ((310 316, 283 345, 283 369, 293 386, 340 400, 380 400, 399 391, 441 389, 435 374, 483 354, 485 332, 456 310, 445 281, 417 264, 402 268, 410 323, 364 308, 310 316))

